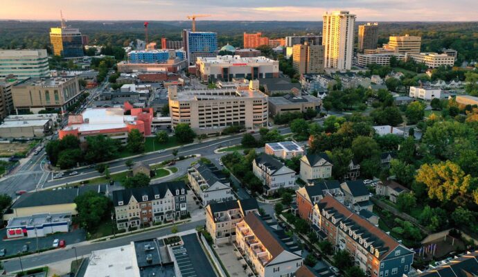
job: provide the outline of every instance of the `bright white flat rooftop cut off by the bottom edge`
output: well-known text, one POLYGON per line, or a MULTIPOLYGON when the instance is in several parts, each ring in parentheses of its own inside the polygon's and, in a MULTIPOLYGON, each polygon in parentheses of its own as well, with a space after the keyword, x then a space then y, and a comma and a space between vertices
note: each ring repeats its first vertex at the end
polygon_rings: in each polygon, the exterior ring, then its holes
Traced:
POLYGON ((85 277, 105 276, 140 277, 134 245, 91 252, 85 277))

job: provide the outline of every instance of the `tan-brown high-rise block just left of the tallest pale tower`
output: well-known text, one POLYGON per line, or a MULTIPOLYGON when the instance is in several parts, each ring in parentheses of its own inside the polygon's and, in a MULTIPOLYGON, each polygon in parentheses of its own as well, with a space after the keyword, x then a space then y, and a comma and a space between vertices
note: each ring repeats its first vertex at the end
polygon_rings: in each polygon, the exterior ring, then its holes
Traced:
POLYGON ((324 46, 296 44, 293 48, 292 62, 299 74, 324 72, 324 46))

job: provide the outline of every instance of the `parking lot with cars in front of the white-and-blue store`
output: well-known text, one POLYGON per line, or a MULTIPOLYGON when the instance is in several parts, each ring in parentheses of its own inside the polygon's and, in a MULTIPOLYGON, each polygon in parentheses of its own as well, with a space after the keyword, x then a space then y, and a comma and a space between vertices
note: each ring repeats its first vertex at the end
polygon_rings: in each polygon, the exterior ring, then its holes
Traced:
MULTIPOLYGON (((0 230, 2 238, 6 238, 6 229, 0 230)), ((46 237, 38 238, 38 249, 48 249, 53 247, 53 240, 65 240, 67 246, 86 240, 86 233, 82 229, 76 229, 69 233, 57 233, 55 235, 48 235, 46 237)), ((15 240, 2 240, 0 242, 0 249, 6 249, 6 256, 15 255, 21 252, 24 245, 28 245, 29 252, 37 251, 36 238, 20 238, 15 240)))

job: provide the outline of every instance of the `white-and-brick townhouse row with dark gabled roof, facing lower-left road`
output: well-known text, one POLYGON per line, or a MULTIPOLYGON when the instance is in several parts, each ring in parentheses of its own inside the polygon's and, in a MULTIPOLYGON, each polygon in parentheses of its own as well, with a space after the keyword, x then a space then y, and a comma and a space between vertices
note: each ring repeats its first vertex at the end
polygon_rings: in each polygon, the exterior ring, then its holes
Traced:
POLYGON ((184 181, 114 190, 112 194, 116 227, 119 230, 171 221, 188 212, 188 192, 184 181))

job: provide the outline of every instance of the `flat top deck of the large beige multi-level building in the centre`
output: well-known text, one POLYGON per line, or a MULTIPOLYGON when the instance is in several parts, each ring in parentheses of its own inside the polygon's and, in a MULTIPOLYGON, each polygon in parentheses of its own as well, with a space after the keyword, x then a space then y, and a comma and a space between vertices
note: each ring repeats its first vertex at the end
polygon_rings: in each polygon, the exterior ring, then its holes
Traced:
POLYGON ((236 88, 226 89, 186 89, 177 91, 177 100, 215 100, 215 99, 233 99, 233 98, 261 98, 265 94, 260 91, 239 90, 236 88))

